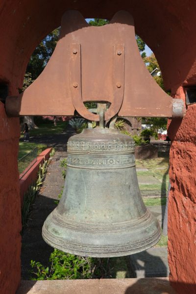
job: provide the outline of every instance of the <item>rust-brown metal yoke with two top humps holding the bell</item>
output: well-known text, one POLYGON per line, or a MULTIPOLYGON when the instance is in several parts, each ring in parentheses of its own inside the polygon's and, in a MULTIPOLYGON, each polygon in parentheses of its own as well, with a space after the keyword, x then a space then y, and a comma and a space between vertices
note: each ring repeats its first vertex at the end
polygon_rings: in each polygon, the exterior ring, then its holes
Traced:
POLYGON ((73 116, 77 111, 98 121, 83 102, 110 102, 105 119, 183 117, 184 102, 172 99, 154 81, 135 40, 134 21, 117 12, 108 25, 86 23, 78 11, 67 11, 56 48, 43 73, 19 96, 6 98, 9 116, 73 116))

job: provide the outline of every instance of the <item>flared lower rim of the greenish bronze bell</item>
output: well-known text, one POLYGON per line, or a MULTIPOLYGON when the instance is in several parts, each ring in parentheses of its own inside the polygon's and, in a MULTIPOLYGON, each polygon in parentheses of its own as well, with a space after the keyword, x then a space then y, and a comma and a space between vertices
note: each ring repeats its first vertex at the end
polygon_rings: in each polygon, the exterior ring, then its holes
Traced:
MULTIPOLYGON (((58 220, 56 212, 45 221, 42 236, 50 246, 64 252, 90 257, 118 257, 138 253, 157 244, 161 238, 161 228, 155 217, 147 210, 146 221, 138 228, 130 221, 126 230, 114 230, 112 227, 92 230, 86 224, 86 230, 71 227, 58 220), (57 218, 56 218, 57 217, 57 218)), ((70 221, 69 221, 70 222, 70 221)), ((138 221, 139 223, 139 221, 138 221)), ((119 223, 119 228, 123 223, 119 223)))

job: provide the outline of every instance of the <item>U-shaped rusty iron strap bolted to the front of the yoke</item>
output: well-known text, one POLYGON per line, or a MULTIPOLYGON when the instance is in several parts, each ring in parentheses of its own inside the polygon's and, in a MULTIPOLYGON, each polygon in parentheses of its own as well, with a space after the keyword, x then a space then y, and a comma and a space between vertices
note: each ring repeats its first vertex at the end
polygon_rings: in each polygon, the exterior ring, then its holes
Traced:
MULTIPOLYGON (((75 110, 85 119, 99 121, 99 115, 91 113, 82 101, 81 85, 81 45, 70 44, 70 84, 71 96, 75 110)), ((124 45, 114 46, 114 94, 109 109, 105 112, 105 120, 114 117, 120 110, 124 93, 124 45)))

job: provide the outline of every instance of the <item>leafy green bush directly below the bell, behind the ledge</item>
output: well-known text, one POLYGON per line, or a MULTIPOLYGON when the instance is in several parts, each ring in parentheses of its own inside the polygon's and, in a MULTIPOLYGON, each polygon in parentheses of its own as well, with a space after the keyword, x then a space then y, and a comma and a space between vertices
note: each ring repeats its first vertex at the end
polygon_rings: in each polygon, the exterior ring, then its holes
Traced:
POLYGON ((114 258, 83 257, 54 249, 47 267, 31 260, 31 280, 110 278, 113 264, 114 258))

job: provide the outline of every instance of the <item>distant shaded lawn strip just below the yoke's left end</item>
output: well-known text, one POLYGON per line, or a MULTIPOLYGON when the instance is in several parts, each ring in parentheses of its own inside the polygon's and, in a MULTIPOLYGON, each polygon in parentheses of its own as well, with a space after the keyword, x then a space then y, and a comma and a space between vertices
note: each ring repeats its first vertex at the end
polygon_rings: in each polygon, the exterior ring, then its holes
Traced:
MULTIPOLYGON (((51 123, 42 123, 38 125, 38 129, 33 129, 29 131, 29 136, 45 136, 60 134, 67 127, 68 122, 57 122, 56 126, 51 123)), ((23 135, 23 132, 21 133, 23 135)))

